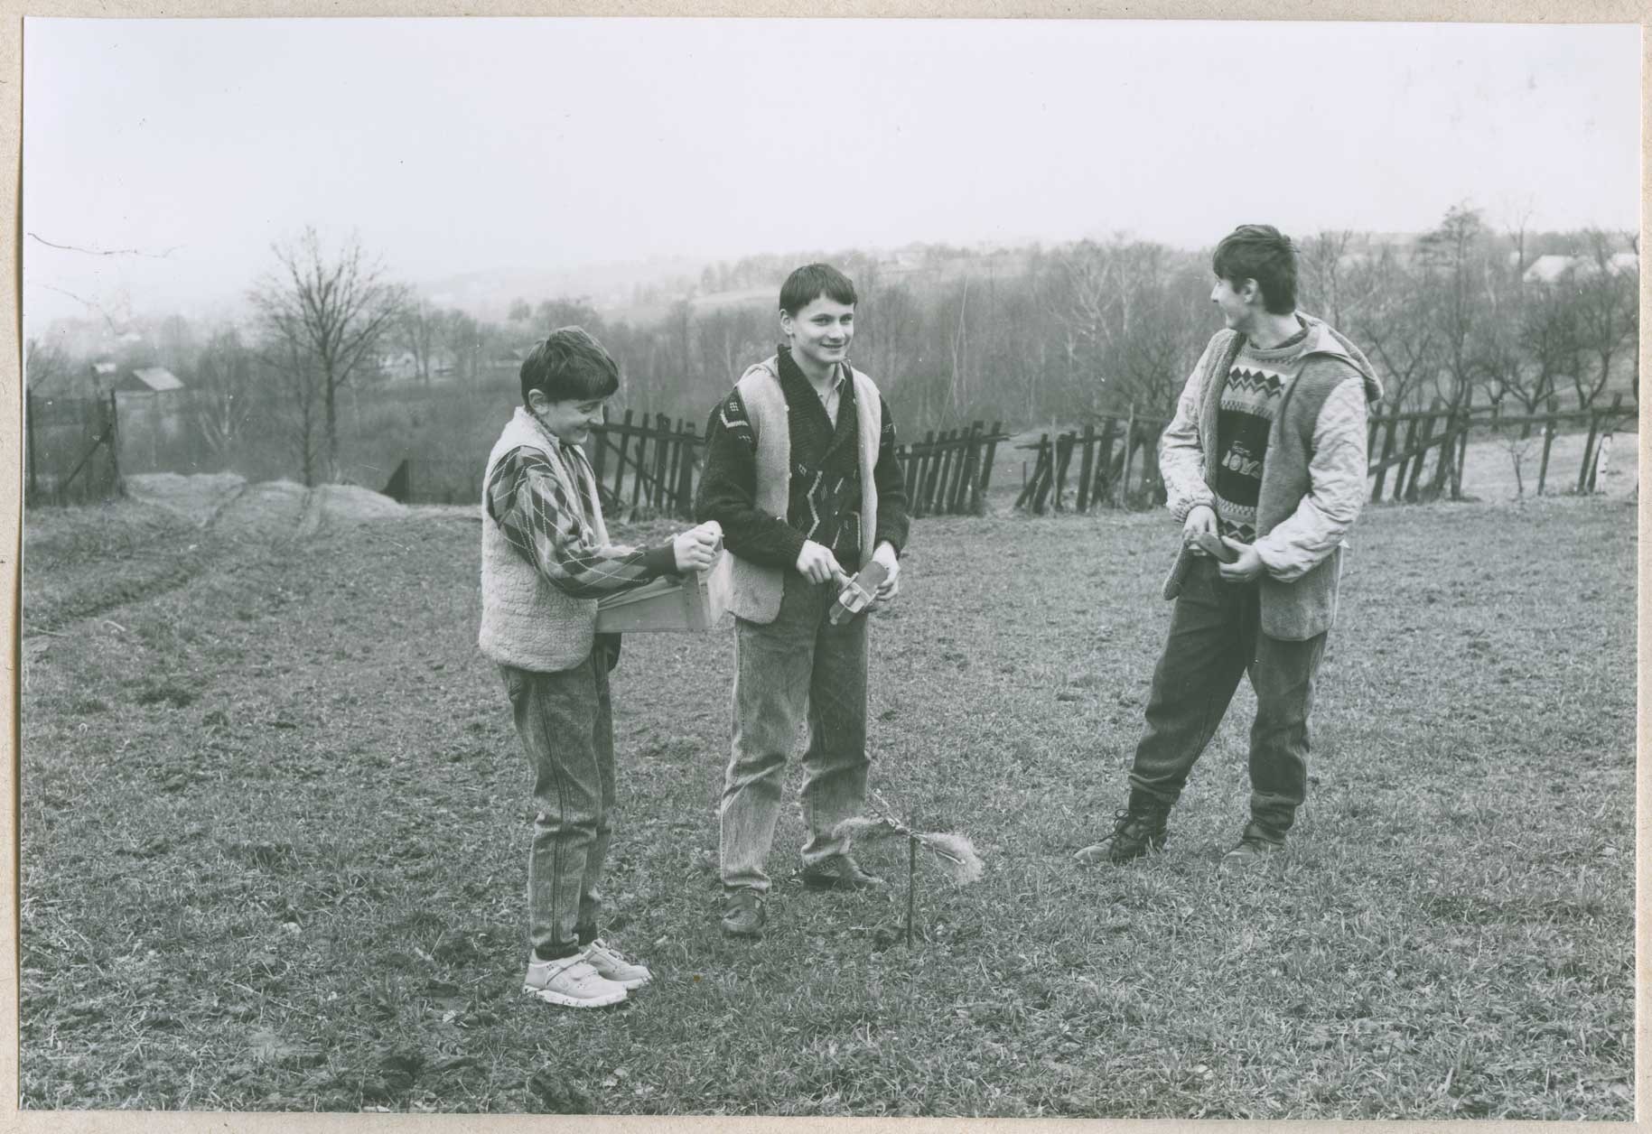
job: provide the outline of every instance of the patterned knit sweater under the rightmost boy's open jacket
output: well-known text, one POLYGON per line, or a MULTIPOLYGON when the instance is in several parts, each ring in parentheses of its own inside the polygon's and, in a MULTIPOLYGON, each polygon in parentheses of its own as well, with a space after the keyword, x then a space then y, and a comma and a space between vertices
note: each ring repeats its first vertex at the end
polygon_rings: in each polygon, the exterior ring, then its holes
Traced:
POLYGON ((1256 502, 1262 492, 1267 434, 1279 413, 1280 395, 1302 371, 1307 337, 1308 332, 1300 330, 1267 350, 1246 340, 1222 385, 1211 492, 1216 495, 1218 532, 1241 543, 1256 543, 1256 502))

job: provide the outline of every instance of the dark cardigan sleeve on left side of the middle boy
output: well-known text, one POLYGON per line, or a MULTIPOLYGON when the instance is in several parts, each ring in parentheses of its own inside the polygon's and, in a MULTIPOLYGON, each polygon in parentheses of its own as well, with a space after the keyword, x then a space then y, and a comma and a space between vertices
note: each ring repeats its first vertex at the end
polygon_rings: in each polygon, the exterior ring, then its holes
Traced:
POLYGON ((705 472, 694 518, 715 520, 724 546, 748 563, 795 568, 803 533, 757 507, 757 434, 740 391, 730 391, 705 423, 705 472))

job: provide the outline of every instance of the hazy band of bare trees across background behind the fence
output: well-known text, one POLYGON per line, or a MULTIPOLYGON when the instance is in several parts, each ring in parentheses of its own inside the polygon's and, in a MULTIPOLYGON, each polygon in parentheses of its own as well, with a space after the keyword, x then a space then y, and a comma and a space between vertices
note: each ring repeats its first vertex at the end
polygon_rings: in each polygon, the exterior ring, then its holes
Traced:
MULTIPOLYGON (((1391 408, 1439 399, 1535 413, 1555 396, 1584 409, 1607 388, 1639 395, 1632 233, 1498 229, 1459 205, 1421 234, 1322 231, 1298 246, 1300 307, 1365 348, 1391 408)), ((544 297, 491 322, 390 279, 358 239, 329 249, 306 229, 273 248, 249 320, 198 335, 170 319, 119 361, 178 375, 206 451, 230 462, 251 434, 278 437, 291 472, 314 484, 339 475, 345 393, 392 396, 400 380, 509 398, 522 353, 570 324, 620 361, 623 404, 702 421, 745 365, 775 350, 780 282, 808 259, 856 281, 852 357, 907 429, 1084 424, 1132 408, 1165 418, 1219 325, 1208 249, 1128 236, 993 253, 753 256, 684 281, 648 320, 605 317, 586 297, 544 297)), ((88 366, 28 343, 31 388, 88 366)))

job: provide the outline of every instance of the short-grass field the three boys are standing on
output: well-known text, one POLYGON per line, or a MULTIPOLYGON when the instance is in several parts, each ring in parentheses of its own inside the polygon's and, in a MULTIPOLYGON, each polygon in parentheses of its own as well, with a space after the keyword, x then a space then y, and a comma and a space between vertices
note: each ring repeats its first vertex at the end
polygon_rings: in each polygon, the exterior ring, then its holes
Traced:
POLYGON ((770 936, 720 939, 732 639, 633 636, 608 938, 656 984, 595 1014, 519 994, 532 807, 469 510, 91 515, 28 522, 28 1108, 1632 1117, 1632 502, 1370 510, 1254 878, 1216 873, 1247 692, 1166 853, 1070 860, 1123 797, 1166 522, 919 522, 874 784, 986 876, 925 868, 910 951, 895 896, 790 880, 790 809, 770 936))

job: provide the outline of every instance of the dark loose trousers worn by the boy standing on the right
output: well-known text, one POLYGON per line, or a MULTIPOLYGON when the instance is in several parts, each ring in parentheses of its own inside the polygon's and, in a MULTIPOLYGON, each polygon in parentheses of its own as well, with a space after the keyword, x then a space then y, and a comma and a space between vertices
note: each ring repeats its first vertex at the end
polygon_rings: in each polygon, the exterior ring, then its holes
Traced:
POLYGON ((1325 634, 1305 642, 1257 629, 1256 583, 1224 583, 1216 561, 1194 560, 1170 616, 1170 639, 1153 670, 1146 731, 1130 771, 1132 804, 1175 804, 1222 713, 1251 673, 1251 817, 1284 835, 1307 791, 1308 713, 1325 634))

